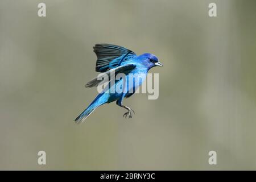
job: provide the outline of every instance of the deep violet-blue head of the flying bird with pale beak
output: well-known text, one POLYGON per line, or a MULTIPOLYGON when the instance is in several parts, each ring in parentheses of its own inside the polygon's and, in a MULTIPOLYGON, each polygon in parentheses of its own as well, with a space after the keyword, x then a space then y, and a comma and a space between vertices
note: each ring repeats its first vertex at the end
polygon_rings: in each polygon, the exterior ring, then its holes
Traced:
POLYGON ((139 56, 139 59, 142 60, 142 64, 148 69, 152 67, 163 67, 163 64, 160 63, 158 58, 152 55, 152 53, 143 53, 143 55, 139 56))

